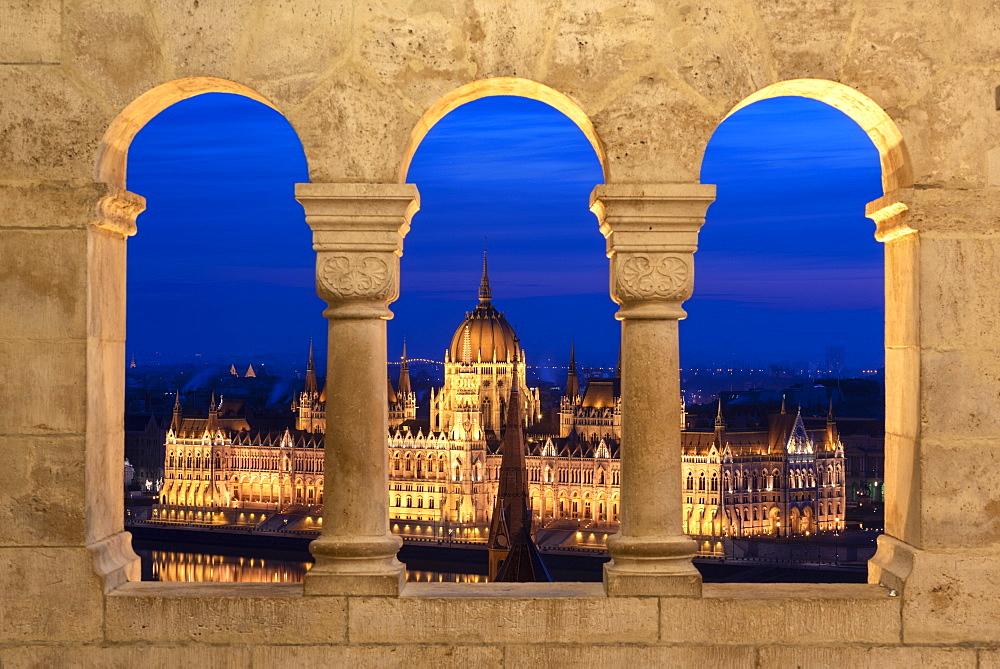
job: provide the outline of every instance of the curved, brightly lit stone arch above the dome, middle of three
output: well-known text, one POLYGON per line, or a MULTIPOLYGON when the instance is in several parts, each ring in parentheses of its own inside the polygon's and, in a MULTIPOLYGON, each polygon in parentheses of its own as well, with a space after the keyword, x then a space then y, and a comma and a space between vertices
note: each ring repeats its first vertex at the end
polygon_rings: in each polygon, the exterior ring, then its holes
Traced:
POLYGON ((410 171, 410 163, 413 160, 414 154, 416 154, 424 137, 427 136, 427 133, 430 132, 430 129, 438 121, 467 102, 497 95, 511 95, 544 102, 573 121, 580 128, 587 141, 590 142, 591 147, 593 147, 594 153, 597 154, 597 159, 601 163, 601 172, 604 174, 604 180, 605 182, 608 181, 608 157, 604 151, 604 144, 601 142, 600 137, 597 136, 597 130, 590 121, 590 117, 580 108, 580 105, 569 96, 560 93, 554 88, 550 88, 537 81, 532 81, 531 79, 494 77, 491 79, 477 79, 464 86, 459 86, 438 98, 437 102, 427 108, 423 116, 420 117, 410 131, 410 138, 403 149, 403 158, 399 165, 399 182, 406 183, 406 175, 410 171))

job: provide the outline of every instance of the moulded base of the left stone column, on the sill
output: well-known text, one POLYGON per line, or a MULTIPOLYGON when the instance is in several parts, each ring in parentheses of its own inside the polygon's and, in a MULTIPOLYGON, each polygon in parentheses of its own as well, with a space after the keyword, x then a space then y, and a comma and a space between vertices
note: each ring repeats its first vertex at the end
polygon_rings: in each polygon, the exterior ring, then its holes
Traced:
POLYGON ((396 559, 403 540, 380 537, 319 537, 309 544, 316 558, 306 572, 306 595, 398 597, 406 567, 396 559))

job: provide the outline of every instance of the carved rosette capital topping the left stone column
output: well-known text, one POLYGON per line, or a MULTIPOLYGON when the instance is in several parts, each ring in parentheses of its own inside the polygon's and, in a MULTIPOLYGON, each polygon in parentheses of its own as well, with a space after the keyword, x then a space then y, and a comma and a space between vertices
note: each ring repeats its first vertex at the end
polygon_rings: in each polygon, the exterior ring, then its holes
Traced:
POLYGON ((316 291, 327 318, 392 318, 399 257, 419 209, 413 184, 304 183, 295 198, 316 251, 316 291))

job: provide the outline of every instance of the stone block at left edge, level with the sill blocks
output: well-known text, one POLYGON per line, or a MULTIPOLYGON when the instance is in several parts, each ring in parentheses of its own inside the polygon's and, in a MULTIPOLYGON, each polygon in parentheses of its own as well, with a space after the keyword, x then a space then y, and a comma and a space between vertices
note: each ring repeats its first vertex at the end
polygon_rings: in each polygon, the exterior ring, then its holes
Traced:
POLYGON ((99 640, 101 592, 86 548, 0 548, 0 646, 99 640))

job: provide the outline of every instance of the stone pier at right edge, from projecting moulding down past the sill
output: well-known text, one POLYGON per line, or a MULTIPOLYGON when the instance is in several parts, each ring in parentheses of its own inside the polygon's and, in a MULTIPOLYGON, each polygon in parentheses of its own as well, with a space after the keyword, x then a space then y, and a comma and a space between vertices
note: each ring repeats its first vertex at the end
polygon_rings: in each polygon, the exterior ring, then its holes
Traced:
POLYGON ((904 642, 995 638, 1000 609, 1000 190, 902 189, 885 243, 885 534, 869 581, 904 642))

